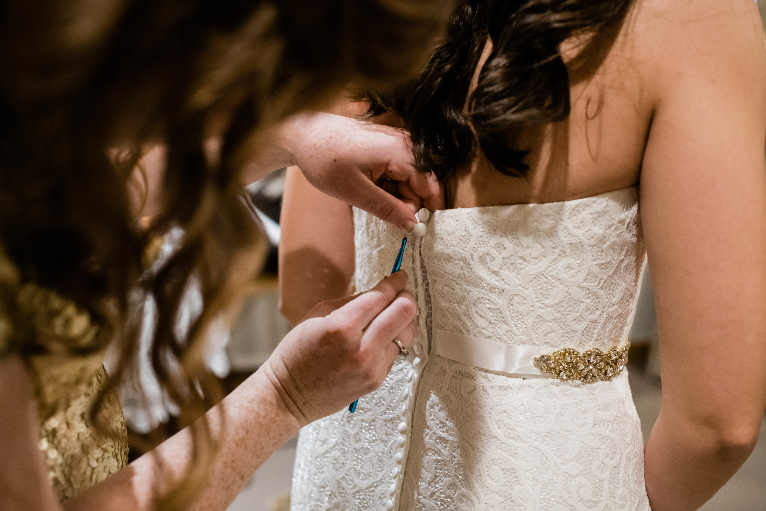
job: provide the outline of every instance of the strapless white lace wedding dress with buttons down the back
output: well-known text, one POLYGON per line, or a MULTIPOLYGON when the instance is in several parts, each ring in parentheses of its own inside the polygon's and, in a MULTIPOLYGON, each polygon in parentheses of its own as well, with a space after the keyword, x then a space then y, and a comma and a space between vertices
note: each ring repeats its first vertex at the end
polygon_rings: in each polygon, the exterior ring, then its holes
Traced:
MULTIPOLYGON (((391 271, 403 233, 362 211, 354 223, 362 291, 391 271)), ((650 510, 627 370, 569 382, 482 369, 435 346, 450 336, 536 353, 621 345, 644 258, 636 189, 437 211, 407 247, 417 346, 355 413, 303 428, 291 509, 650 510)))

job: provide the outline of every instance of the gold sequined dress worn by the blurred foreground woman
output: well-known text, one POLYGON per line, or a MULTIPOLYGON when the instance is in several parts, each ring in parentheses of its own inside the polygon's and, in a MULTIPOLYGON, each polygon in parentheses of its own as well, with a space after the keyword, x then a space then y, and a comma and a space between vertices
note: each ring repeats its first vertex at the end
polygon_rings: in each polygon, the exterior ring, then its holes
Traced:
POLYGON ((94 427, 89 411, 106 385, 103 351, 87 351, 99 326, 71 300, 23 282, 0 247, 0 356, 21 353, 34 382, 39 447, 59 500, 68 500, 127 464, 125 418, 116 391, 100 410, 109 434, 94 427), (25 344, 44 346, 30 355, 25 344))

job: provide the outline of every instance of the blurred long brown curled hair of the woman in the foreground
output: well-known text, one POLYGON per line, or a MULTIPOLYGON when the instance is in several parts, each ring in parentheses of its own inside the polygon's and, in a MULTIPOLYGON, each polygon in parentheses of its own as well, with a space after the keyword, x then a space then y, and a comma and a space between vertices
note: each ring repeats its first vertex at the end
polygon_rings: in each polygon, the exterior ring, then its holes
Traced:
MULTIPOLYGON (((158 312, 152 365, 182 424, 221 398, 203 339, 260 265, 262 237, 237 197, 255 134, 346 84, 390 85, 417 72, 450 8, 437 0, 0 1, 0 243, 25 280, 73 299, 103 326, 86 352, 116 339, 110 388, 134 369, 138 325, 129 310, 149 293, 158 312), (214 119, 224 127, 211 152, 214 119), (139 229, 126 188, 156 140, 167 156, 162 208, 139 229), (185 231, 182 246, 146 274, 146 247, 174 226, 185 231), (191 276, 205 306, 179 337, 191 276)), ((215 442, 205 421, 194 424, 192 468, 162 509, 188 506, 202 486, 215 442)))

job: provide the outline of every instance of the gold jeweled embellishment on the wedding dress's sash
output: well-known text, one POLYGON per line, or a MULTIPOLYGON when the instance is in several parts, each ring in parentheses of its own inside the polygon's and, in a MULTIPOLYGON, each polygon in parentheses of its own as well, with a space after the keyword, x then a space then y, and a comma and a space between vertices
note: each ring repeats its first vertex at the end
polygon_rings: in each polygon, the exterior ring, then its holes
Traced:
POLYGON ((535 365, 540 368, 540 371, 565 382, 604 381, 619 375, 625 368, 629 347, 630 342, 626 341, 620 347, 612 346, 606 353, 598 348, 589 348, 582 353, 574 348, 561 348, 551 355, 535 357, 535 365))

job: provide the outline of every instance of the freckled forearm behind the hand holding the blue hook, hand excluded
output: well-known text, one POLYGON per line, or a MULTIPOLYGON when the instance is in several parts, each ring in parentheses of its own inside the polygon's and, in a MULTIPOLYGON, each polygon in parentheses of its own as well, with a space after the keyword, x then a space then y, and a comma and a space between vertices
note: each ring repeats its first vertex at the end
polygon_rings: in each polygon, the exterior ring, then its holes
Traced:
MULTIPOLYGON (((263 372, 248 378, 207 414, 218 452, 208 481, 191 509, 227 509, 253 473, 300 429, 263 372), (221 420, 221 418, 223 420, 221 420)), ((164 493, 185 473, 191 432, 175 434, 102 483, 67 502, 67 510, 150 511, 152 495, 164 493), (162 459, 162 470, 155 456, 162 459)))

